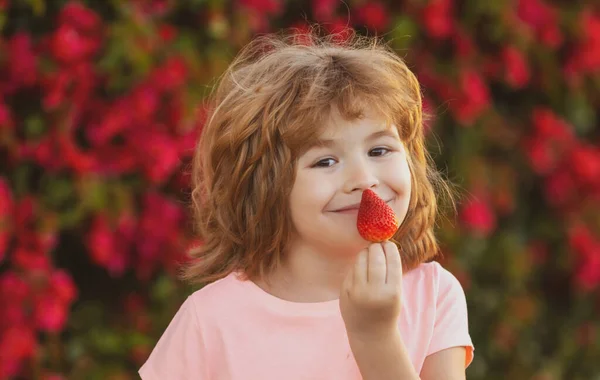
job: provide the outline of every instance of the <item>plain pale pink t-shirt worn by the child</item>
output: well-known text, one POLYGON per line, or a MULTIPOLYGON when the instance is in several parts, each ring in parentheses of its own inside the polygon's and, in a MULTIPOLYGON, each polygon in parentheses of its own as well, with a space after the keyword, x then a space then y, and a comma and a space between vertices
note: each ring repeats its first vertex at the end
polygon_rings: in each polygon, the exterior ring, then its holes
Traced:
MULTIPOLYGON (((428 355, 467 347, 467 304, 437 262, 403 277, 400 333, 417 372, 428 355)), ((143 380, 359 380, 339 301, 295 303, 236 274, 190 295, 140 368, 143 380)))

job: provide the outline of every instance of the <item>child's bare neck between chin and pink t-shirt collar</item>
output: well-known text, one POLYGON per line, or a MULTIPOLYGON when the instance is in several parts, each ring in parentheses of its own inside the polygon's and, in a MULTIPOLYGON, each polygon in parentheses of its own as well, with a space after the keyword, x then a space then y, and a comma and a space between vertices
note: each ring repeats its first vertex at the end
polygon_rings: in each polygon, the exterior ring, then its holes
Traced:
POLYGON ((291 302, 325 302, 338 299, 355 255, 325 255, 313 247, 295 245, 269 281, 255 283, 271 295, 291 302))

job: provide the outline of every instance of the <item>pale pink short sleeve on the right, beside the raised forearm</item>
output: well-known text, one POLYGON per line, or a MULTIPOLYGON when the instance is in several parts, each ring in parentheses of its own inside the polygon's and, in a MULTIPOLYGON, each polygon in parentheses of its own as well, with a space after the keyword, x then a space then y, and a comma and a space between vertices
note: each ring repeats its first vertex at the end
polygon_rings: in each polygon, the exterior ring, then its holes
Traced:
POLYGON ((427 355, 451 347, 465 347, 465 368, 473 361, 474 346, 469 335, 467 299, 460 282, 442 266, 438 267, 435 325, 427 355))

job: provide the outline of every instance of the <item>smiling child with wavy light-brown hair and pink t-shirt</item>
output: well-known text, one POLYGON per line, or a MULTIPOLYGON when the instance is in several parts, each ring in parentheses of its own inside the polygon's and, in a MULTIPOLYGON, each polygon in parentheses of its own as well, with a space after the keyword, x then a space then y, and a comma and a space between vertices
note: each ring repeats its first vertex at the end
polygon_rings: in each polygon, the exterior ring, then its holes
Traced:
POLYGON ((419 84, 380 42, 261 37, 213 94, 196 152, 203 244, 183 303, 139 373, 152 379, 464 379, 459 282, 431 261, 434 189, 419 84), (373 190, 402 222, 356 227, 373 190))

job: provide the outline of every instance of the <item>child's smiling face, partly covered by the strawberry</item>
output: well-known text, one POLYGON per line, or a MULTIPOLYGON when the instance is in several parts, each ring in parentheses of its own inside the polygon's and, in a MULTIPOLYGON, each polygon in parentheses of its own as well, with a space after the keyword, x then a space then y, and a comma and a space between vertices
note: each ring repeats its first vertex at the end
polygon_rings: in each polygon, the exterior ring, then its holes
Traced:
POLYGON ((411 192, 407 152, 395 127, 365 117, 352 122, 335 117, 315 146, 299 157, 290 196, 297 238, 337 253, 357 253, 368 243, 356 228, 365 189, 387 201, 400 221, 411 192))

